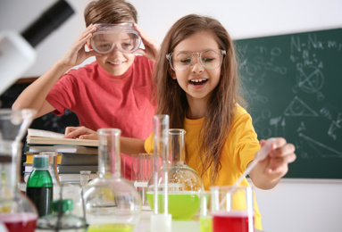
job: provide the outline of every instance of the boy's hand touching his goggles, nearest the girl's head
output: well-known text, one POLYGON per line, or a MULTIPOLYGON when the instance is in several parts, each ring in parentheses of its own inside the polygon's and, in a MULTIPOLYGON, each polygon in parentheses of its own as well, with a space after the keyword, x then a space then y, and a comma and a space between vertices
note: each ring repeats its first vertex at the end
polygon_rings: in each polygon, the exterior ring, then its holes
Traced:
POLYGON ((137 23, 133 23, 133 26, 138 31, 145 46, 145 50, 139 48, 136 53, 142 54, 149 60, 155 62, 157 54, 159 53, 160 45, 152 37, 149 37, 144 30, 140 29, 137 23))

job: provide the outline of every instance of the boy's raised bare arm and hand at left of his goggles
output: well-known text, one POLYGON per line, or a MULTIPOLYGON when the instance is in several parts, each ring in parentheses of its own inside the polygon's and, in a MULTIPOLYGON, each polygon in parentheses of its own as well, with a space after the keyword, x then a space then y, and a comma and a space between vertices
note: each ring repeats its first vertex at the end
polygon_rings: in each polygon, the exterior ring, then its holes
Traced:
POLYGON ((72 67, 79 65, 88 57, 95 55, 93 51, 86 52, 84 46, 96 30, 96 26, 90 25, 72 44, 63 58, 56 62, 46 73, 29 85, 14 102, 13 110, 24 108, 38 111, 36 118, 54 111, 54 107, 46 101, 46 96, 54 84, 63 74, 72 67))

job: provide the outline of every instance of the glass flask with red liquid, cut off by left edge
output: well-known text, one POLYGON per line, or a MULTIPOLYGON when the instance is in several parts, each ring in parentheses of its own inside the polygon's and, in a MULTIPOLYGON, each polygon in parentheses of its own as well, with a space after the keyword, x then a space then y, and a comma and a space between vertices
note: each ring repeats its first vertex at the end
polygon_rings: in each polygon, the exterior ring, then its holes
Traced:
POLYGON ((9 232, 33 232, 38 211, 18 189, 21 170, 21 139, 35 110, 0 110, 0 228, 9 232))

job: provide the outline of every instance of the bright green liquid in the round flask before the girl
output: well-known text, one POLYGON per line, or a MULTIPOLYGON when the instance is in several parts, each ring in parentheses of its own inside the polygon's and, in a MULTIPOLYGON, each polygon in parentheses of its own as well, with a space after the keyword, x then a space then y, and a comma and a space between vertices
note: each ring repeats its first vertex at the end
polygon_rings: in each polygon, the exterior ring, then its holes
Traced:
MULTIPOLYGON (((163 195, 158 194, 159 212, 163 212, 163 195)), ((154 209, 154 193, 146 193, 147 203, 154 209)), ((172 220, 189 220, 199 210, 199 195, 189 191, 169 192, 169 213, 172 220)))

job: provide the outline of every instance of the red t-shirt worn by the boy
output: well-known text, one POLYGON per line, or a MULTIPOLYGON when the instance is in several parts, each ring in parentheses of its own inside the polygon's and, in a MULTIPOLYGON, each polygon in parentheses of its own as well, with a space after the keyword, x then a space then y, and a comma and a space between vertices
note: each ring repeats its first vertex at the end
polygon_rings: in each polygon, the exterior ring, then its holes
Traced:
MULTIPOLYGON (((63 115, 66 109, 75 112, 80 126, 120 128, 122 137, 146 139, 153 130, 155 112, 151 100, 153 68, 154 62, 136 56, 126 73, 112 76, 92 62, 64 74, 46 100, 56 115, 63 115)), ((126 158, 125 176, 130 178, 130 159, 126 158)))

